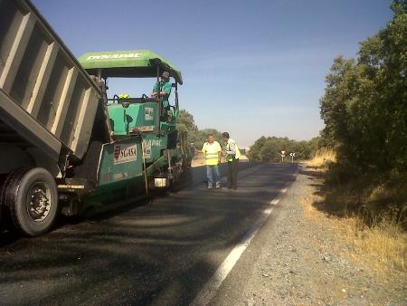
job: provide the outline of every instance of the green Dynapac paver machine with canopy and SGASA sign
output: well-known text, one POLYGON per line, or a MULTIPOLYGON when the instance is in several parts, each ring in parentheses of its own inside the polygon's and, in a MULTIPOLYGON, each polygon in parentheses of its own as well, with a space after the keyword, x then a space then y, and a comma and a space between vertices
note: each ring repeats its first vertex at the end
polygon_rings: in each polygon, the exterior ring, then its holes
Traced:
POLYGON ((171 62, 147 50, 85 53, 78 61, 93 76, 108 101, 107 126, 113 144, 104 145, 100 155, 99 192, 104 194, 106 188, 130 177, 147 192, 175 186, 188 177, 194 150, 187 143, 186 133, 175 129, 179 112, 178 84, 183 83, 181 72, 171 62), (175 102, 168 109, 163 107, 159 95, 120 99, 114 94, 108 98, 109 78, 150 77, 158 82, 165 71, 175 80, 172 83, 175 102), (118 147, 117 142, 122 147, 118 147), (136 151, 141 154, 137 155, 136 151))

